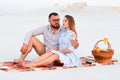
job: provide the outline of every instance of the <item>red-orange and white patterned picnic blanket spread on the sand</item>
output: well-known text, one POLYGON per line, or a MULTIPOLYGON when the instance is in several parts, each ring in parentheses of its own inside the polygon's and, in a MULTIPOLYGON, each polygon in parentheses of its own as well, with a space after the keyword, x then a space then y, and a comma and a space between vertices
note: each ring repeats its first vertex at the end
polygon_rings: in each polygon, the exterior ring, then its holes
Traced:
MULTIPOLYGON (((120 62, 116 59, 112 60, 111 63, 97 63, 92 56, 80 57, 80 61, 82 62, 81 67, 92 67, 92 66, 106 66, 106 65, 114 65, 120 64, 120 62)), ((25 61, 25 63, 29 63, 30 61, 25 61)), ((55 70, 55 69, 68 69, 68 68, 78 68, 78 67, 63 67, 61 65, 48 65, 43 67, 30 68, 25 67, 22 64, 17 62, 0 62, 0 70, 10 72, 10 71, 38 71, 38 70, 55 70)))

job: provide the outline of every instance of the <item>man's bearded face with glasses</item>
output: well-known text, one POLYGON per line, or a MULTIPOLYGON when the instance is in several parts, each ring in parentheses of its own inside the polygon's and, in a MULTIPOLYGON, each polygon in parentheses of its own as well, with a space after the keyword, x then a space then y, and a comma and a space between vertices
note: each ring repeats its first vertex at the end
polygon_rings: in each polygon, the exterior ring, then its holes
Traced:
POLYGON ((53 28, 59 28, 60 26, 60 18, 58 15, 57 16, 52 15, 49 19, 49 22, 51 24, 51 27, 53 28))

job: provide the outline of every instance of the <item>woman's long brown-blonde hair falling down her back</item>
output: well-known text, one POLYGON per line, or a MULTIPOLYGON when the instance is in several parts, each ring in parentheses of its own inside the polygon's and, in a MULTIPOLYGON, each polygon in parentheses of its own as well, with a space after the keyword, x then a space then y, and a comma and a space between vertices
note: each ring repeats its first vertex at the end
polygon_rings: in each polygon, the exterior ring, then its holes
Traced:
POLYGON ((68 19, 68 24, 70 26, 70 29, 77 34, 74 18, 72 16, 70 16, 70 15, 65 15, 65 18, 68 19))

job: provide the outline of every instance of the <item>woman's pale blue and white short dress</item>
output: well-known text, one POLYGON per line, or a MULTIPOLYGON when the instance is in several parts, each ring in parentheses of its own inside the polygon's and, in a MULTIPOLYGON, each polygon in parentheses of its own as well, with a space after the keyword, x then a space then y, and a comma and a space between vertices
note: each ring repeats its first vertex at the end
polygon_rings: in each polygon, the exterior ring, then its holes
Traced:
POLYGON ((67 67, 81 65, 80 59, 76 55, 75 48, 71 45, 71 42, 70 42, 70 40, 73 39, 72 37, 73 34, 74 32, 72 30, 68 30, 68 31, 62 32, 59 37, 59 50, 70 49, 72 50, 72 53, 64 54, 56 50, 51 50, 51 52, 59 56, 61 63, 63 63, 64 66, 67 66, 67 67))

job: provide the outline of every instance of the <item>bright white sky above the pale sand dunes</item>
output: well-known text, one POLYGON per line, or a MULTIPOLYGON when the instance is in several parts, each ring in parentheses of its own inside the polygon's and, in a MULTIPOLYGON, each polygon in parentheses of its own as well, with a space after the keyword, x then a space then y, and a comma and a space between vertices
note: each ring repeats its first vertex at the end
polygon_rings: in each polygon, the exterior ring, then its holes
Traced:
POLYGON ((0 0, 0 14, 12 11, 26 11, 41 7, 68 5, 75 2, 86 2, 92 6, 120 6, 120 0, 0 0))

